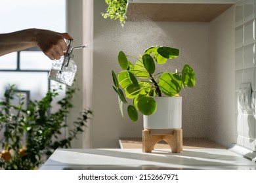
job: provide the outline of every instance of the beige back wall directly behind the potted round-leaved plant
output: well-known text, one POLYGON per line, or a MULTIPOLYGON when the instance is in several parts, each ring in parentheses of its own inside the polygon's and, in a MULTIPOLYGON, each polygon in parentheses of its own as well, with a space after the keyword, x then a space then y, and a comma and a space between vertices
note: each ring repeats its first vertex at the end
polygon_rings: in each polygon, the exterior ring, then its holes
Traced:
MULTIPOLYGON (((175 71, 184 63, 196 72, 196 86, 182 92, 182 128, 184 137, 207 137, 209 133, 209 23, 127 22, 104 19, 104 1, 94 1, 93 42, 93 148, 117 148, 119 137, 141 137, 142 118, 133 124, 127 114, 121 117, 117 95, 112 89, 111 71, 119 71, 117 54, 123 50, 139 55, 160 44, 180 49, 176 60, 164 65, 175 71)), ((231 109, 230 109, 231 110, 231 109)), ((234 116, 234 115, 233 115, 234 116)))

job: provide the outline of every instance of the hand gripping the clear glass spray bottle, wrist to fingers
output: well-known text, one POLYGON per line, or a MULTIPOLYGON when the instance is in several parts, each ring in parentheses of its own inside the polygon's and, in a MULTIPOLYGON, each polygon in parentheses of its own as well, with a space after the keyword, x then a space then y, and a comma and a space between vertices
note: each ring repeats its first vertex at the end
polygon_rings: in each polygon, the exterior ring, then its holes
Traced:
POLYGON ((57 33, 45 29, 36 29, 37 46, 50 59, 60 59, 66 52, 67 44, 64 39, 73 38, 68 33, 57 33))

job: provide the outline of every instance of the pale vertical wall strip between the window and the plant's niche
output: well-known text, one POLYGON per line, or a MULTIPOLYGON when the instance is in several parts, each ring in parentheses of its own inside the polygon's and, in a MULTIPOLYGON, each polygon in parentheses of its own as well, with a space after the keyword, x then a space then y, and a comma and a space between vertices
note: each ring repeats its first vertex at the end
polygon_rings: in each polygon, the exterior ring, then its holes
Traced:
MULTIPOLYGON (((66 1, 68 33, 74 38, 72 46, 87 45, 83 50, 74 50, 74 61, 77 64, 77 76, 74 86, 78 88, 72 103, 74 107, 68 116, 68 127, 73 129, 74 121, 81 117, 83 109, 92 109, 93 86, 93 0, 66 1)), ((91 148, 91 120, 87 120, 84 132, 72 141, 72 148, 91 148)))

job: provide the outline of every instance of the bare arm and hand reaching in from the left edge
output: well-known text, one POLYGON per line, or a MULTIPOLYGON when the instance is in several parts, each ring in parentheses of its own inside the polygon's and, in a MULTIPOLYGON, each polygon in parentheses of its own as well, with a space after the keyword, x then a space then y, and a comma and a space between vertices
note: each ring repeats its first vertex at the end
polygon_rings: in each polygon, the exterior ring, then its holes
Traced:
POLYGON ((67 49, 64 39, 72 39, 68 33, 57 33, 45 29, 24 29, 0 34, 0 56, 39 46, 50 59, 60 59, 67 49))

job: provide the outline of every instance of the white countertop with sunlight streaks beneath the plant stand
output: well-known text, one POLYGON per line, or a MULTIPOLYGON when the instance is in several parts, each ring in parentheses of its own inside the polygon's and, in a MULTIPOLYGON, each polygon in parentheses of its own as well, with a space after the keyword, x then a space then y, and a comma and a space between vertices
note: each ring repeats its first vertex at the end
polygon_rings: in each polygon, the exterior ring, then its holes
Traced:
POLYGON ((41 170, 49 169, 253 169, 256 163, 226 149, 57 149, 41 170))

